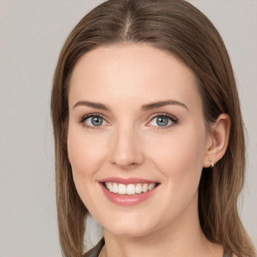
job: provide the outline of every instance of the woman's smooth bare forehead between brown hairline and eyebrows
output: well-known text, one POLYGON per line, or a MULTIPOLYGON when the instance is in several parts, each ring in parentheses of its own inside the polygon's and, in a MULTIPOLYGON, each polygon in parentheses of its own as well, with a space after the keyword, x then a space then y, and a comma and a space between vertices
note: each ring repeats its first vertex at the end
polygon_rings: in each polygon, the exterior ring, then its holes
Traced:
POLYGON ((79 60, 70 81, 69 104, 168 98, 199 102, 194 74, 174 56, 148 45, 98 47, 79 60))

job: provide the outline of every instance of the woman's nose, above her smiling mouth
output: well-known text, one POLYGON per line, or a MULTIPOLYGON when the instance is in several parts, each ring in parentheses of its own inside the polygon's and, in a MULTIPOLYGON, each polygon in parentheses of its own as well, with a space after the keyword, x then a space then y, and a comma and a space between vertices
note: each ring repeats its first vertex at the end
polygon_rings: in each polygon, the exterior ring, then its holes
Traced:
POLYGON ((144 162, 140 135, 132 127, 120 128, 113 132, 110 162, 122 170, 130 170, 144 162))

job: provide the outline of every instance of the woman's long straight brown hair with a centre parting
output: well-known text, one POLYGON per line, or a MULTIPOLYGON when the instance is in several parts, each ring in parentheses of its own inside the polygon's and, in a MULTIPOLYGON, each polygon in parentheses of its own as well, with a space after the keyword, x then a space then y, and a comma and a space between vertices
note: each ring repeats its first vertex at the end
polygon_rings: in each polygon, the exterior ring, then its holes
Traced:
POLYGON ((214 169, 202 171, 199 219, 210 241, 222 244, 238 257, 254 256, 237 212, 237 198, 244 182, 245 142, 233 70, 213 24, 184 0, 106 1, 80 21, 64 43, 51 98, 58 225, 64 256, 83 255, 88 214, 77 194, 67 158, 69 80, 81 56, 98 46, 124 43, 149 44, 176 56, 192 69, 198 81, 207 129, 219 114, 230 116, 225 155, 214 169))

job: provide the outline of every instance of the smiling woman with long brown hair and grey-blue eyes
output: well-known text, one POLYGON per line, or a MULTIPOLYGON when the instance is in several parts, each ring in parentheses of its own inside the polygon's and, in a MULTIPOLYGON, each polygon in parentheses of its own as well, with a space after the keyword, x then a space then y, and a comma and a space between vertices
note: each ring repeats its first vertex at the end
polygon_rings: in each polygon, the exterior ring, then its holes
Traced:
POLYGON ((67 38, 52 90, 65 256, 254 256, 237 213, 245 170, 232 67, 182 0, 110 0, 67 38), (236 113, 236 115, 235 115, 236 113))

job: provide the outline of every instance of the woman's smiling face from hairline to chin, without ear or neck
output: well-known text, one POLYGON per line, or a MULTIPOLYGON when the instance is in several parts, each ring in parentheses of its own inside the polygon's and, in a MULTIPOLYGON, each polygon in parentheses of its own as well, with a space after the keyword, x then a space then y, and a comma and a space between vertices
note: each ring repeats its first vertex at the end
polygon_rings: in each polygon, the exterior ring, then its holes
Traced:
POLYGON ((75 66, 68 156, 79 196, 106 231, 140 236, 197 219, 211 144, 194 75, 175 57, 120 45, 75 66))

